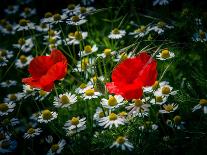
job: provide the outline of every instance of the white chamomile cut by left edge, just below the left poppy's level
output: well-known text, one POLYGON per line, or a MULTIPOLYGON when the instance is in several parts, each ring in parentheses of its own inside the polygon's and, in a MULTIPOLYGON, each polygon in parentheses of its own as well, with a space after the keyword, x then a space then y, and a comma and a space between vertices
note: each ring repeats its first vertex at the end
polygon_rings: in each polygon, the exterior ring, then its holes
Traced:
POLYGON ((14 111, 14 107, 16 103, 0 103, 0 116, 8 115, 12 111, 14 111))

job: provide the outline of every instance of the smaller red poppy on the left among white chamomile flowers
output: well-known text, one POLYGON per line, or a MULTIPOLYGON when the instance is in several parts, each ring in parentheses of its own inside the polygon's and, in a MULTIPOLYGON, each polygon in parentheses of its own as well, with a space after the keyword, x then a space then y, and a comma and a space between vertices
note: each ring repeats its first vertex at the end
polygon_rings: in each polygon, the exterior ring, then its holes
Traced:
POLYGON ((22 82, 50 91, 55 80, 60 80, 67 73, 67 59, 59 50, 53 50, 49 56, 38 56, 29 65, 31 77, 23 78, 22 82))

